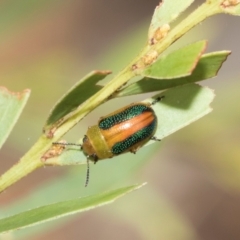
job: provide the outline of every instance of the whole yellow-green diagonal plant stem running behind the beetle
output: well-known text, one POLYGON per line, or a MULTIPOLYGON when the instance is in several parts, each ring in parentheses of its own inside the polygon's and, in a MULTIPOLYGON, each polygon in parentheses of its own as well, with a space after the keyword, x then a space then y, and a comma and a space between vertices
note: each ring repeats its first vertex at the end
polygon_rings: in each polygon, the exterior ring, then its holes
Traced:
POLYGON ((120 87, 133 78, 136 73, 134 72, 132 66, 140 61, 145 54, 151 50, 155 50, 158 54, 161 54, 165 49, 167 49, 167 47, 169 47, 173 42, 183 36, 195 25, 202 22, 207 17, 220 12, 222 12, 222 9, 220 8, 220 1, 206 1, 174 29, 172 29, 162 41, 153 46, 146 46, 126 68, 124 68, 112 79, 112 81, 106 84, 104 88, 85 102, 76 114, 63 123, 56 130, 52 139, 47 139, 44 135, 41 136, 37 143, 22 157, 22 159, 20 159, 20 161, 0 177, 0 192, 4 191, 7 187, 11 186, 28 173, 43 166, 44 163, 41 161, 41 156, 51 147, 51 143, 60 139, 84 116, 106 101, 111 94, 115 93, 120 87))

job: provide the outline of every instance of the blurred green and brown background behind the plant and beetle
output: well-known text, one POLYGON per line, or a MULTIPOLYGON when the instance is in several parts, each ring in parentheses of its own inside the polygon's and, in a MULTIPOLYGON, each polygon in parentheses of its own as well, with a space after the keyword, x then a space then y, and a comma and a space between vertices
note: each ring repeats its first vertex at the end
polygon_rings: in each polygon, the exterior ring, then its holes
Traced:
MULTIPOLYGON (((0 2, 0 79, 30 100, 1 150, 0 174, 35 143, 54 103, 91 70, 117 73, 143 47, 158 0, 4 0, 0 2)), ((193 8, 201 1, 196 1, 193 8)), ((46 167, 0 196, 0 217, 114 187, 148 184, 112 205, 0 236, 0 239, 240 239, 240 19, 220 15, 173 47, 208 39, 207 51, 232 50, 217 78, 213 112, 136 155, 85 166, 46 167)), ((116 105, 91 113, 66 137, 74 142, 116 105)))

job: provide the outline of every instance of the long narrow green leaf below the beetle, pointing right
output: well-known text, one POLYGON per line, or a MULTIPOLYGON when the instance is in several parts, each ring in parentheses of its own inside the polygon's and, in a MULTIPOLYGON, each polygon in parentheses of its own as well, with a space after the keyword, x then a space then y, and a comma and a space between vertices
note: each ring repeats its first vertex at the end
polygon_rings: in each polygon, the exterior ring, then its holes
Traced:
POLYGON ((58 202, 3 218, 0 219, 0 232, 3 233, 10 230, 25 228, 60 217, 88 211, 112 203, 117 198, 122 197, 143 185, 145 184, 133 185, 93 196, 58 202))

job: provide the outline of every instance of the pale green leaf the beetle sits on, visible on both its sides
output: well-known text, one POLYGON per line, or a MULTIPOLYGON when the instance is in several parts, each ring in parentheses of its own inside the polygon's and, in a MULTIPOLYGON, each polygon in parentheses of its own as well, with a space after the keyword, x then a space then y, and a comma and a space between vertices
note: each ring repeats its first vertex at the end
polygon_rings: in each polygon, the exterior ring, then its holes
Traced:
MULTIPOLYGON (((161 102, 153 105, 158 117, 156 137, 159 139, 163 139, 209 113, 211 111, 209 105, 214 97, 214 93, 209 88, 187 84, 169 89, 144 102, 153 102, 159 95, 165 96, 161 102)), ((146 145, 152 143, 154 141, 149 141, 146 145)), ((62 166, 86 164, 86 162, 86 156, 80 147, 69 146, 60 156, 48 159, 45 164, 62 166)))

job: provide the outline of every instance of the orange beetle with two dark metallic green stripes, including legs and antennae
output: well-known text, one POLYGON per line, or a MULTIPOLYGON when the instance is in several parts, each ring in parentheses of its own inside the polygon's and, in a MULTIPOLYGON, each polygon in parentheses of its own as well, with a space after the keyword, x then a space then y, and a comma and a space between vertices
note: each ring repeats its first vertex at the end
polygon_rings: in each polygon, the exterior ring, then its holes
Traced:
POLYGON ((154 134, 157 130, 157 116, 151 105, 164 96, 156 98, 152 103, 137 102, 120 108, 98 120, 88 128, 82 144, 60 143, 60 145, 80 146, 87 156, 87 178, 89 180, 89 160, 98 160, 131 152, 136 153, 149 140, 160 141, 154 134))

